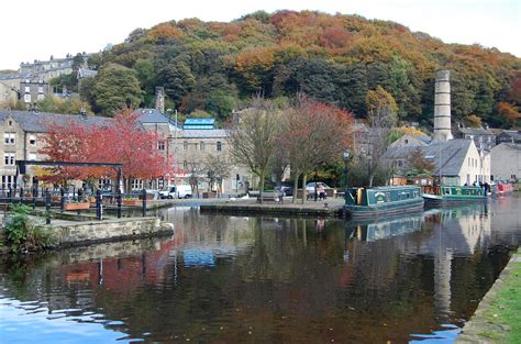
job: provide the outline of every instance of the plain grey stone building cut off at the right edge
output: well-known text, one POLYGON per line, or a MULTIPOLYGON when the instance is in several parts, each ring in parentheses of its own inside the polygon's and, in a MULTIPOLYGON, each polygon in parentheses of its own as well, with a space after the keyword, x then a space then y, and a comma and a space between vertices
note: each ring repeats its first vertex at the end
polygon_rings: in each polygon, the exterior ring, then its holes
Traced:
POLYGON ((490 151, 490 156, 494 180, 519 180, 521 177, 521 144, 498 144, 490 151))

